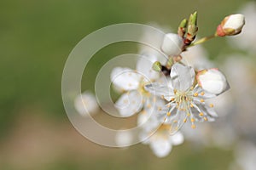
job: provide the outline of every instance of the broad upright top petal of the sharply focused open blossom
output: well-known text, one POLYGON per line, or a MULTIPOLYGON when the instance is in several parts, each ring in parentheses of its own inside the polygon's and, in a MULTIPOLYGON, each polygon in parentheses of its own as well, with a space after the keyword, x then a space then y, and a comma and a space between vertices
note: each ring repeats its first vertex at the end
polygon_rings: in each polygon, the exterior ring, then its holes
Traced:
POLYGON ((180 91, 189 89, 195 81, 195 71, 192 67, 175 64, 171 71, 172 87, 180 91))

